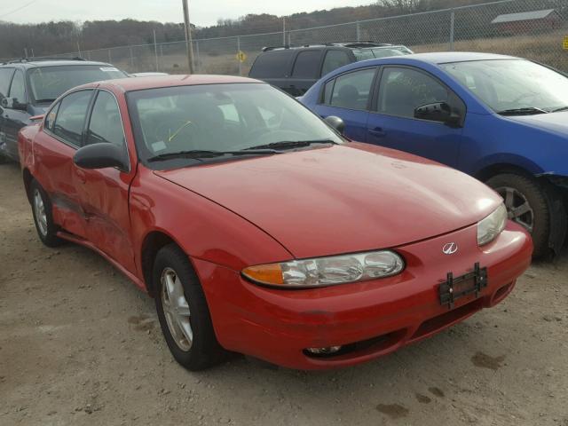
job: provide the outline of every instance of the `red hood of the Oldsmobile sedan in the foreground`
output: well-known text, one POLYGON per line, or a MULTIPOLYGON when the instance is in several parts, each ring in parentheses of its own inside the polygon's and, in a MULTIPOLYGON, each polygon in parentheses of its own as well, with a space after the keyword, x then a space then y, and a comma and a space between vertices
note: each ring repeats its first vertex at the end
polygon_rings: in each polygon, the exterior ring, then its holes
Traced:
POLYGON ((423 240, 501 203, 460 171, 359 143, 154 173, 244 217, 296 257, 423 240))

